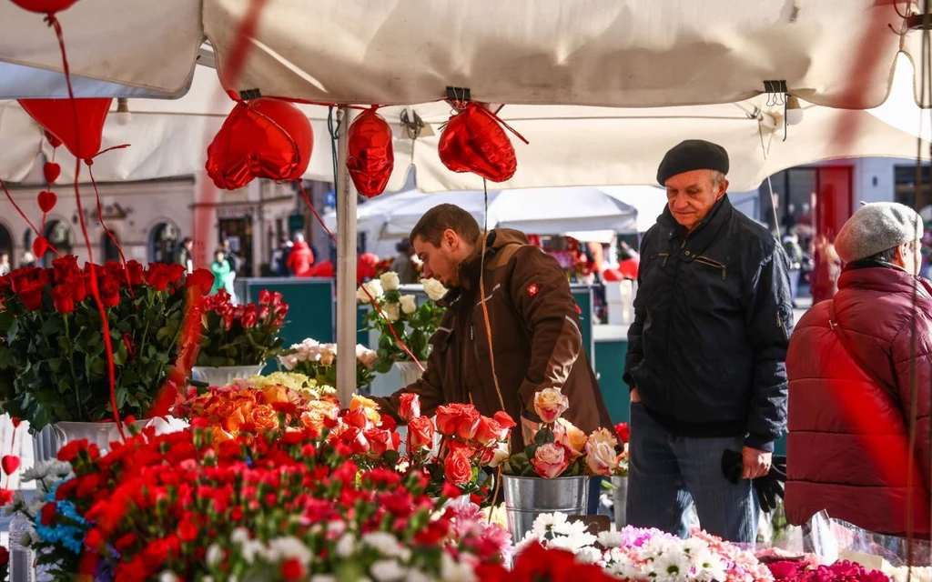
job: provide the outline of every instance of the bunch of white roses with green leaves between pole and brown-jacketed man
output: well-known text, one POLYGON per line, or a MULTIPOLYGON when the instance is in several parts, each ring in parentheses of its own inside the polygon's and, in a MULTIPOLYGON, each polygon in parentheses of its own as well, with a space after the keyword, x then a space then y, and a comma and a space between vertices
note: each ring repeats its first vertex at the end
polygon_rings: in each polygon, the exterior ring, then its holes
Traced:
POLYGON ((373 365, 376 372, 388 372, 396 361, 411 361, 411 357, 398 345, 396 336, 418 360, 426 361, 431 355, 430 339, 445 312, 445 307, 436 302, 444 297, 446 289, 435 279, 424 279, 421 285, 430 299, 421 305, 418 305, 415 295, 403 295, 399 291, 398 274, 392 271, 364 283, 356 292, 361 303, 375 302, 373 310, 365 316, 365 330, 380 332, 378 358, 373 365))

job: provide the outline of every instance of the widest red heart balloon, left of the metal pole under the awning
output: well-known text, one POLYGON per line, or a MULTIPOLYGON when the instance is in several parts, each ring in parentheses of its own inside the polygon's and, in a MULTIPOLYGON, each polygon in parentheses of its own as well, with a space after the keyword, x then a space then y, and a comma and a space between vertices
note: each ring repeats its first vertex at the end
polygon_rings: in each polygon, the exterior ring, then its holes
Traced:
POLYGON ((224 190, 254 178, 292 182, 307 171, 313 146, 308 117, 292 103, 239 102, 207 147, 207 174, 224 190))

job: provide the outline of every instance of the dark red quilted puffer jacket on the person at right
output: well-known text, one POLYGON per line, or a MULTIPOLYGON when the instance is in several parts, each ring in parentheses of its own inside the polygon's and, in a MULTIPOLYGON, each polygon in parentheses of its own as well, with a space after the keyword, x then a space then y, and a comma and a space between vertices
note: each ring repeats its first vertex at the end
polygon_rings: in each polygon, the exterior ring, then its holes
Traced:
POLYGON ((913 312, 916 279, 880 265, 845 270, 834 308, 848 344, 889 388, 862 372, 829 328, 830 301, 810 309, 790 338, 787 519, 800 525, 825 509, 873 532, 906 535, 911 506, 913 531, 927 535, 932 288, 922 280, 913 312), (917 431, 909 476, 913 361, 917 431))

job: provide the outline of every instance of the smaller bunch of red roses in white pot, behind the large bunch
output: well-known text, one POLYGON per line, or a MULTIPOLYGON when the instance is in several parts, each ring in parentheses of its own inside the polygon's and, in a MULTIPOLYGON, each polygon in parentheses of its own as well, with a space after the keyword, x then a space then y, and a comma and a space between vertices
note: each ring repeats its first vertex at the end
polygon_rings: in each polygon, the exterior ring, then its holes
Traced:
POLYGON ((199 366, 251 366, 281 352, 281 326, 288 313, 281 293, 262 290, 258 304, 232 305, 229 293, 221 290, 204 297, 200 308, 204 335, 199 366))

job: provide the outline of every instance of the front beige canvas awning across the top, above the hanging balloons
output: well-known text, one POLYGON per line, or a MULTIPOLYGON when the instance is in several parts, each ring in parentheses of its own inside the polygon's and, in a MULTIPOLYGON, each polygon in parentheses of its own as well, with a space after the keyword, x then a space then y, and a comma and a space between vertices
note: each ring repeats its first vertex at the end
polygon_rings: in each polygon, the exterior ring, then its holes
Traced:
MULTIPOLYGON (((177 94, 204 36, 225 62, 253 4, 80 0, 59 16, 75 74, 177 94)), ((744 101, 784 79, 808 102, 867 108, 884 102, 898 50, 917 56, 921 43, 887 28, 902 28, 892 0, 259 4, 232 88, 313 102, 432 102, 454 86, 484 102, 684 105, 744 101)), ((60 70, 40 15, 4 2, 0 22, 0 61, 60 70)), ((13 81, 0 96, 21 96, 13 81)))

